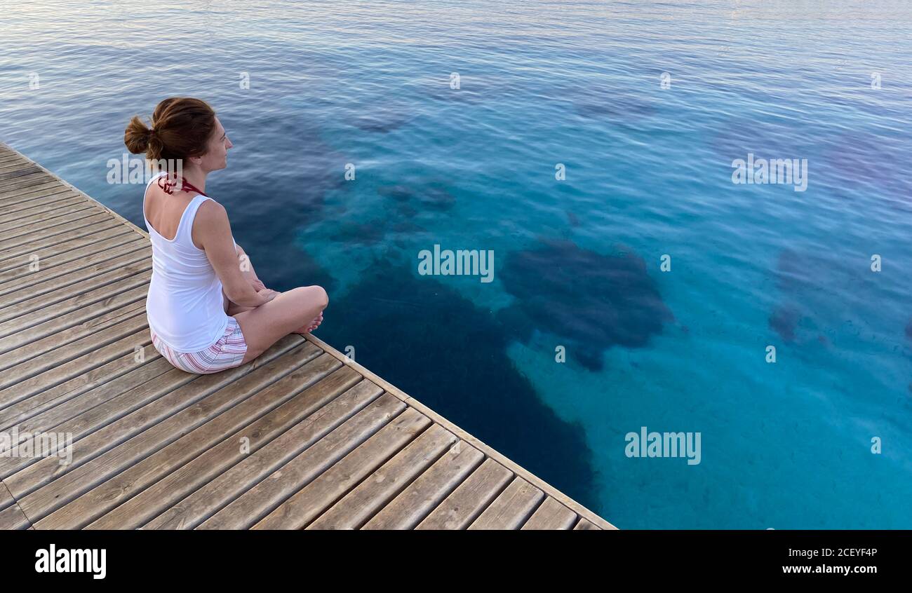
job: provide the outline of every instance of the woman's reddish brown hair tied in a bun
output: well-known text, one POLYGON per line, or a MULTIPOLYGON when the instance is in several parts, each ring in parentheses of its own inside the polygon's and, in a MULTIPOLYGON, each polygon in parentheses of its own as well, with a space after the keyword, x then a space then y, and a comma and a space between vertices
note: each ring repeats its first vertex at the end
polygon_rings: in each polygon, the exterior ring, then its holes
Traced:
POLYGON ((152 113, 152 127, 133 116, 123 134, 123 143, 133 154, 146 153, 151 160, 199 157, 206 152, 215 132, 215 111, 191 97, 161 101, 152 113))

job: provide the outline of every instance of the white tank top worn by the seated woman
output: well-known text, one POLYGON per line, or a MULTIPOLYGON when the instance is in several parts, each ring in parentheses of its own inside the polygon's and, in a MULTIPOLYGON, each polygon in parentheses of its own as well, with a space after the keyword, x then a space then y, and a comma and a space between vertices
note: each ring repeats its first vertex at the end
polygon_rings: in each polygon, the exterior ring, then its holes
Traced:
MULTIPOLYGON (((193 244, 191 232, 196 210, 207 198, 193 197, 183 210, 173 240, 162 237, 146 218, 146 193, 142 195, 142 219, 152 242, 152 279, 146 297, 149 327, 161 341, 181 353, 195 353, 216 343, 228 326, 224 311, 222 281, 206 252, 193 244)), ((233 238, 232 238, 233 240, 233 238)), ((237 250, 237 243, 234 243, 237 250)))

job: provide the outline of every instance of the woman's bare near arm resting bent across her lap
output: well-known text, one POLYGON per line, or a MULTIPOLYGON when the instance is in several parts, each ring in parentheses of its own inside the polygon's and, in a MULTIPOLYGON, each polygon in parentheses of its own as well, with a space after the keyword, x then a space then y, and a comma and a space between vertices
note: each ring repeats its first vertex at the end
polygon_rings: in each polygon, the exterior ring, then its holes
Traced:
POLYGON ((253 267, 249 272, 241 270, 240 255, 234 250, 228 213, 222 204, 212 199, 204 201, 200 210, 197 210, 194 228, 206 257, 222 281, 225 294, 232 302, 243 307, 259 307, 275 298, 275 291, 254 289, 247 275, 251 273, 255 278, 253 267))

